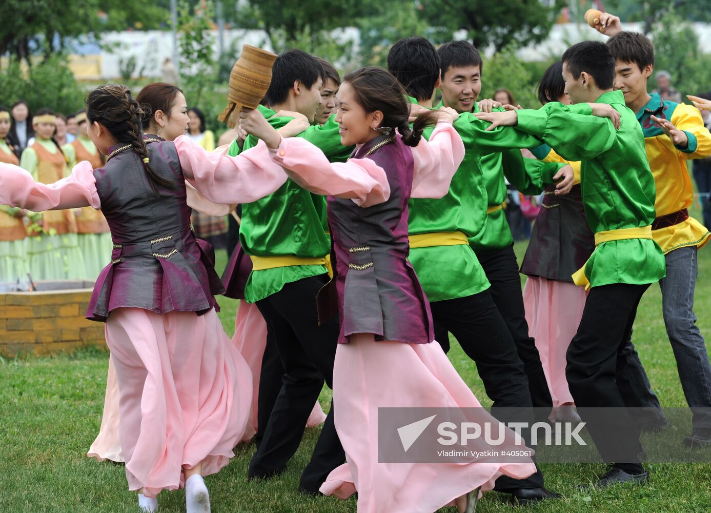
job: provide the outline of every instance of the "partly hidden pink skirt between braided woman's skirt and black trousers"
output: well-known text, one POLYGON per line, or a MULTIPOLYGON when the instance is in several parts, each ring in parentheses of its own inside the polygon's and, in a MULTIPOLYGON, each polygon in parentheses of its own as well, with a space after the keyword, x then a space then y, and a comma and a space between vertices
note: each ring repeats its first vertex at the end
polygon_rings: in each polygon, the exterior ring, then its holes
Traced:
MULTIPOLYGON (((262 313, 257 305, 240 301, 235 319, 235 334, 232 336, 232 344, 235 344, 237 351, 240 351, 247 365, 252 369, 252 411, 250 421, 245 430, 242 440, 250 440, 257 433, 257 400, 260 391, 260 374, 262 371, 262 356, 264 348, 267 347, 267 322, 264 321, 262 313)), ((314 404, 309 420, 306 421, 307 428, 324 423, 326 413, 321 409, 319 401, 314 404)))

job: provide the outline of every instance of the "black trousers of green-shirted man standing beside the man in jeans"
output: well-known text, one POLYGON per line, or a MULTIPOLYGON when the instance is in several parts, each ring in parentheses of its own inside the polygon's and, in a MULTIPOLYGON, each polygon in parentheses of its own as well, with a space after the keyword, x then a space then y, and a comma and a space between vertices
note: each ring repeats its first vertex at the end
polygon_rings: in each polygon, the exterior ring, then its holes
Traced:
POLYGON ((565 376, 577 411, 606 462, 641 470, 639 431, 627 412, 617 362, 649 285, 616 283, 593 287, 578 332, 570 342, 565 376), (615 408, 601 411, 591 408, 615 408), (607 413, 609 412, 609 413, 607 413), (627 464, 627 465, 624 465, 627 464))

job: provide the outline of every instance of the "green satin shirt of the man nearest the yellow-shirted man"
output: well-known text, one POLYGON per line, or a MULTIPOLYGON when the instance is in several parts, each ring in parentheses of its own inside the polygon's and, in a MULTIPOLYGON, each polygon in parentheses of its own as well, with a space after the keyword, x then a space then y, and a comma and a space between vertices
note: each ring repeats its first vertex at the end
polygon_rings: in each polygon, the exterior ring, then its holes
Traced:
MULTIPOLYGON (((606 117, 592 116, 587 104, 558 102, 518 111, 516 129, 540 137, 566 160, 581 161, 582 199, 594 233, 649 226, 656 216, 656 188, 642 129, 621 91, 604 92, 596 101, 620 113, 618 130, 606 117)), ((665 273, 661 248, 643 238, 602 243, 585 265, 591 287, 653 283, 665 273)))

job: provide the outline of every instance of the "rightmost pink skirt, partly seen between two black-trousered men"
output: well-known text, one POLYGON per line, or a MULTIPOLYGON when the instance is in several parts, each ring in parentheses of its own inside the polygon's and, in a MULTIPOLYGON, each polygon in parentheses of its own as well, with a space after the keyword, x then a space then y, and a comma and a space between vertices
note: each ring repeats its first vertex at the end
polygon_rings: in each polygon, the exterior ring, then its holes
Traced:
POLYGON ((529 277, 523 286, 528 333, 535 339, 553 407, 572 403, 565 353, 577 333, 587 292, 574 283, 529 277))

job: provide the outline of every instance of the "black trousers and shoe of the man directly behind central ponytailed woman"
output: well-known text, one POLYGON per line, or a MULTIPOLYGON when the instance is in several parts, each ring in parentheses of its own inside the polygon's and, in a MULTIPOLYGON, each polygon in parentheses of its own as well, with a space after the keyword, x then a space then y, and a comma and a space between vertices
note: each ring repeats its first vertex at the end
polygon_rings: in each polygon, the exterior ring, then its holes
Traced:
MULTIPOLYGON (((437 342, 442 344, 444 352, 449 351, 447 332, 451 332, 461 349, 476 363, 486 395, 493 401, 491 414, 502 422, 528 422, 531 425, 533 411, 528 378, 491 293, 485 290, 467 297, 431 302, 429 307, 437 342)), ((528 432, 522 434, 530 443, 528 432)), ((496 480, 495 489, 506 492, 542 486, 543 475, 538 469, 538 472, 524 480, 501 476, 496 480)))

